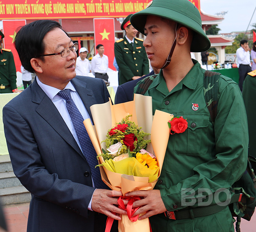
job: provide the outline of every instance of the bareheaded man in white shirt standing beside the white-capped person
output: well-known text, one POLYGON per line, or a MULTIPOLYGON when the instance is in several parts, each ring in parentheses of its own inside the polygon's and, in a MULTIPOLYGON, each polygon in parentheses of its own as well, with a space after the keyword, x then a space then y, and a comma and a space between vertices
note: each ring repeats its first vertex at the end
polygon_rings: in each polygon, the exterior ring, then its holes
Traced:
POLYGON ((91 72, 96 78, 100 78, 108 82, 108 57, 104 55, 104 46, 98 44, 96 46, 98 54, 91 60, 91 72))

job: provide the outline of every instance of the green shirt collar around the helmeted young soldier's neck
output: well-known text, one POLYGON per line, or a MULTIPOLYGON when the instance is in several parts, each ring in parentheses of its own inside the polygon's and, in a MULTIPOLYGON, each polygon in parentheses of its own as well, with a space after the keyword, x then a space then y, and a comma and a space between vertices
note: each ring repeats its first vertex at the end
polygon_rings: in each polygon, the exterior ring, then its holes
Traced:
MULTIPOLYGON (((171 90, 171 93, 176 92, 177 90, 182 89, 183 85, 188 87, 189 89, 195 89, 197 86, 197 83, 200 79, 200 76, 202 75, 202 68, 200 64, 193 60, 194 66, 191 68, 191 70, 188 72, 188 74, 174 87, 174 89, 171 90)), ((150 85, 149 89, 156 88, 161 93, 167 95, 169 94, 169 90, 167 89, 167 85, 165 83, 165 79, 163 78, 163 70, 161 69, 160 73, 150 85)))

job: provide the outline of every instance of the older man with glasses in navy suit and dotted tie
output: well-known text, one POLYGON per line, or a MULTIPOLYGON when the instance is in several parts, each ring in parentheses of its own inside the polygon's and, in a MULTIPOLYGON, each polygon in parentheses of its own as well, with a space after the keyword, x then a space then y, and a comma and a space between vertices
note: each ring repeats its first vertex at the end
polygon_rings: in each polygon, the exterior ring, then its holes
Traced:
POLYGON ((32 194, 27 231, 104 231, 99 213, 118 220, 111 212, 125 211, 114 205, 121 192, 102 189, 82 121, 92 121, 91 105, 108 101, 106 85, 76 77, 78 46, 56 21, 24 26, 15 47, 24 68, 37 75, 3 109, 13 170, 32 194))

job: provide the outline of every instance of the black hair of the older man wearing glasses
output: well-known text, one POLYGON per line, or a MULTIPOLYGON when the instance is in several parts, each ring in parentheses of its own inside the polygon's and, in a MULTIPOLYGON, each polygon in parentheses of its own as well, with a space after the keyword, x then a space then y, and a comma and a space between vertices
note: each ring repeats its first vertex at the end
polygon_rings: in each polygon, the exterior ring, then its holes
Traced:
MULTIPOLYGON (((20 28, 15 36, 14 46, 24 69, 35 73, 30 60, 39 57, 44 61, 42 55, 44 55, 46 45, 43 43, 43 38, 55 28, 63 30, 61 25, 53 20, 37 20, 20 28)), ((65 33, 67 34, 67 32, 65 33)), ((69 35, 67 34, 67 36, 69 35)))

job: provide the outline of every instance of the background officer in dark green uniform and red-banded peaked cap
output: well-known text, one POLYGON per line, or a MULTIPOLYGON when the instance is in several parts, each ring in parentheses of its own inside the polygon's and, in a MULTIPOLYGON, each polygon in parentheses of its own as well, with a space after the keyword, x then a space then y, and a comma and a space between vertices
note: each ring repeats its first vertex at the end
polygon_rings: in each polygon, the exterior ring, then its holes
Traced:
POLYGON ((115 41, 119 85, 149 73, 148 57, 143 47, 143 40, 135 38, 138 31, 130 23, 131 15, 128 15, 121 25, 121 30, 125 30, 126 35, 115 41))

